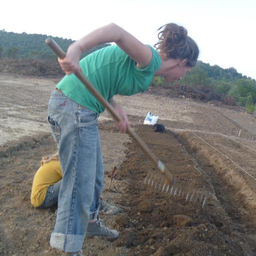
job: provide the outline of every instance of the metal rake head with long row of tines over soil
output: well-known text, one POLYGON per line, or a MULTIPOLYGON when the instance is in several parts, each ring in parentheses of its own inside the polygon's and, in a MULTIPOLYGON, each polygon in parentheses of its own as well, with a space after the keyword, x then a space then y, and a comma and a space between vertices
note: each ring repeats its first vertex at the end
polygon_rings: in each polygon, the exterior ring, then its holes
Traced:
POLYGON ((198 202, 202 207, 204 207, 207 199, 206 192, 183 188, 182 186, 176 184, 176 179, 174 177, 172 178, 172 182, 169 183, 162 177, 156 177, 154 174, 148 173, 144 179, 144 184, 150 185, 157 191, 165 192, 171 194, 172 196, 178 196, 187 202, 198 202))

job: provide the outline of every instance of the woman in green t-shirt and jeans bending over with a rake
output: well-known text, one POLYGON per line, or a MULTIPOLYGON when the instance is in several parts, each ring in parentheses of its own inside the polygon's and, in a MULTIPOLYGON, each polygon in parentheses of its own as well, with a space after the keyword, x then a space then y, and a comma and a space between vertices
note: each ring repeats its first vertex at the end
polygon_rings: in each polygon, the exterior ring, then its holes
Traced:
POLYGON ((97 117, 104 107, 73 72, 81 70, 115 108, 122 117, 122 121, 115 121, 116 126, 125 132, 129 126, 127 115, 114 101, 115 94, 145 91, 154 75, 174 81, 196 64, 199 50, 185 28, 169 23, 159 30, 154 49, 110 23, 72 43, 66 57, 58 59, 67 75, 51 93, 48 122, 58 146, 63 177, 50 245, 63 255, 82 255, 84 235, 111 239, 118 236, 97 217, 104 173, 97 117), (105 42, 116 45, 94 51, 79 61, 81 52, 105 42))

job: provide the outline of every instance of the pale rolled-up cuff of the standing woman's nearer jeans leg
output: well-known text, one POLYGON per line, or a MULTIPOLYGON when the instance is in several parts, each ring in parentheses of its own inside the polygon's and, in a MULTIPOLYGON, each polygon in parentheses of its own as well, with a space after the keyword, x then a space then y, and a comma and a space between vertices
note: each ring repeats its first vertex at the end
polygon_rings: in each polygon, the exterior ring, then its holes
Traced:
POLYGON ((50 246, 64 252, 75 252, 82 248, 84 235, 51 233, 50 246))

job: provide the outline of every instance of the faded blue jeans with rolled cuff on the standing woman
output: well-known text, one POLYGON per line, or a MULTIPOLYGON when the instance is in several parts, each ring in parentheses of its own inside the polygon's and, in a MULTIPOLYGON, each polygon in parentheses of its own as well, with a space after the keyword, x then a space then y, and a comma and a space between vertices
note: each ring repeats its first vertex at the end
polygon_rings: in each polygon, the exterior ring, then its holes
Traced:
POLYGON ((78 251, 82 247, 90 212, 93 212, 93 218, 98 215, 103 187, 97 113, 53 90, 47 120, 58 146, 63 174, 50 245, 65 252, 78 251))

